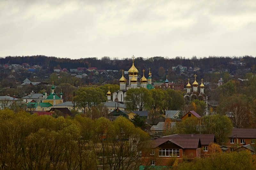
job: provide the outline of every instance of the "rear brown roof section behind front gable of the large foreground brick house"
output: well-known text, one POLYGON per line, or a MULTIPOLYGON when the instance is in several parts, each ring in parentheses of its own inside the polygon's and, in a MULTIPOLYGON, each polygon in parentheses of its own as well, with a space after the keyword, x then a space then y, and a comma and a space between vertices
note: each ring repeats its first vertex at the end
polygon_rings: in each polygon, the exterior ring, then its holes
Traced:
POLYGON ((172 137, 200 137, 202 145, 209 145, 210 143, 216 143, 215 135, 200 134, 200 135, 191 135, 191 134, 176 134, 170 135, 172 137))

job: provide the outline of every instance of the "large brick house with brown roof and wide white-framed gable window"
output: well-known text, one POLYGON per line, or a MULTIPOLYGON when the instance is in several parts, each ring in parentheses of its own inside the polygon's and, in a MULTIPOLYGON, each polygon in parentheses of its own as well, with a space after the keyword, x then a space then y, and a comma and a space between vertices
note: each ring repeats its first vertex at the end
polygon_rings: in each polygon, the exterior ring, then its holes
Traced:
POLYGON ((203 154, 202 151, 208 151, 208 146, 214 142, 216 142, 214 135, 176 134, 160 137, 152 141, 150 153, 142 150, 140 168, 170 166, 168 164, 173 157, 176 157, 180 162, 184 156, 187 159, 200 158, 203 154))

